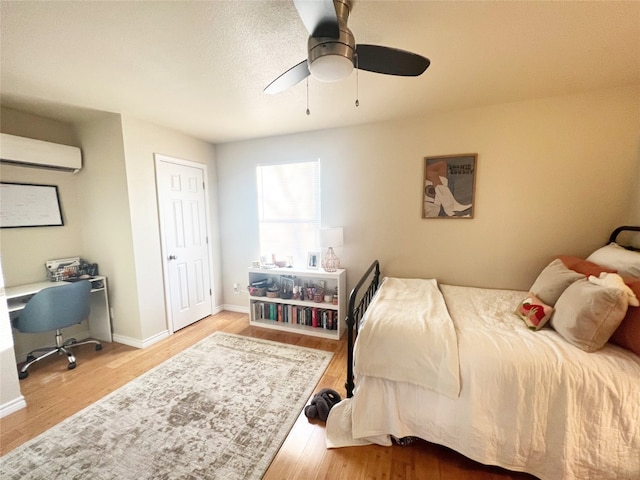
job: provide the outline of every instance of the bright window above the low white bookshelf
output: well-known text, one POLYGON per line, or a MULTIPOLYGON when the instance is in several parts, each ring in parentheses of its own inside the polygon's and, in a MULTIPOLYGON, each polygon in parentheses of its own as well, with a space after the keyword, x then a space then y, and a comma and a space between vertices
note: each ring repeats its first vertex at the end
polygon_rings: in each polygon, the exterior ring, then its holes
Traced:
POLYGON ((319 245, 320 160, 259 165, 256 173, 260 255, 306 265, 319 245))

